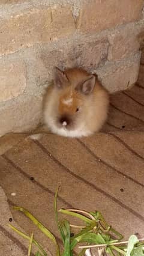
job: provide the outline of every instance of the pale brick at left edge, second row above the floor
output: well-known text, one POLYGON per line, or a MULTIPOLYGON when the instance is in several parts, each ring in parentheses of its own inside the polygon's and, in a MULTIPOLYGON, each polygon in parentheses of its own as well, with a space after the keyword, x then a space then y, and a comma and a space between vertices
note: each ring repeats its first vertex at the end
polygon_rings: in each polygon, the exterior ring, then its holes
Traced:
POLYGON ((25 87, 25 64, 22 61, 0 61, 0 102, 19 96, 25 87))

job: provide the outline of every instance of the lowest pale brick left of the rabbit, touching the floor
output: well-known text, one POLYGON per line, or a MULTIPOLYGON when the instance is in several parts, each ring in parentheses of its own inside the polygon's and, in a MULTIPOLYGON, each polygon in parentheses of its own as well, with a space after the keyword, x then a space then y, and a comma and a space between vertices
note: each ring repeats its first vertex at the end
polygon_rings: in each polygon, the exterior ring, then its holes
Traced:
POLYGON ((41 96, 23 96, 22 100, 14 100, 0 107, 0 136, 37 126, 41 117, 41 102, 41 96))

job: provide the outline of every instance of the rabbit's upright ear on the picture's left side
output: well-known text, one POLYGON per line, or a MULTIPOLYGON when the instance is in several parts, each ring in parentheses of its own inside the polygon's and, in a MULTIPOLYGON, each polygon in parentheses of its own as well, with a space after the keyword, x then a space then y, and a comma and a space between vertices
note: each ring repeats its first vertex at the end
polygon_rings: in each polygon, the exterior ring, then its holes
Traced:
POLYGON ((53 67, 53 82, 58 88, 64 88, 68 84, 67 76, 58 67, 53 67))

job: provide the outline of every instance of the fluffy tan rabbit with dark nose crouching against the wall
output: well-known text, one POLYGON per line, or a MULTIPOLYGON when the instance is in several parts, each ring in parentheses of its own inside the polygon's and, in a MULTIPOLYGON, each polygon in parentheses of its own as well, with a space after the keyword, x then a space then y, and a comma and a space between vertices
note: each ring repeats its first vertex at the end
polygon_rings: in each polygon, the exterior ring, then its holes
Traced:
POLYGON ((55 69, 44 99, 44 123, 58 135, 79 138, 101 129, 109 94, 94 75, 82 69, 55 69))

